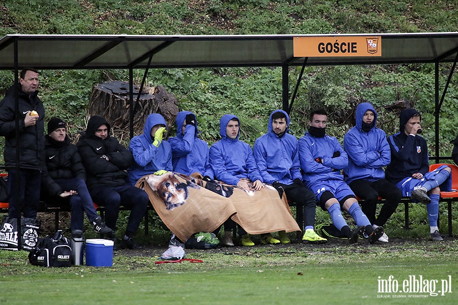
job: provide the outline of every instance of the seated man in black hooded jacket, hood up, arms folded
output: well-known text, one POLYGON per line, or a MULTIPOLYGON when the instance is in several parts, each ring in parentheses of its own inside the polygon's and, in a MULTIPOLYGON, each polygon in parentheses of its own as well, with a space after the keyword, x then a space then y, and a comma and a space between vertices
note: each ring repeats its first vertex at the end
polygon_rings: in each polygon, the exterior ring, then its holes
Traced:
POLYGON ((109 134, 110 125, 105 118, 94 115, 76 144, 86 169, 89 193, 96 204, 105 206, 105 223, 113 231, 116 230, 120 205, 130 207, 120 246, 141 249, 132 236, 145 216, 150 200, 144 190, 126 183, 125 170, 134 162, 132 153, 109 134))

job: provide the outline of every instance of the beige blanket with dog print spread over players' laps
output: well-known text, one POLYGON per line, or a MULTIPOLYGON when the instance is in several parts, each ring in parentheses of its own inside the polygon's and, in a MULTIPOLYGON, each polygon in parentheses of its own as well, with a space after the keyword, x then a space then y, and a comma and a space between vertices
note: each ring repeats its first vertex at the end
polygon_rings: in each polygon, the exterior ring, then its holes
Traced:
POLYGON ((261 191, 202 181, 168 172, 148 175, 136 184, 144 188, 164 224, 185 241, 196 232, 212 232, 228 218, 250 234, 300 231, 285 196, 265 185, 261 191))

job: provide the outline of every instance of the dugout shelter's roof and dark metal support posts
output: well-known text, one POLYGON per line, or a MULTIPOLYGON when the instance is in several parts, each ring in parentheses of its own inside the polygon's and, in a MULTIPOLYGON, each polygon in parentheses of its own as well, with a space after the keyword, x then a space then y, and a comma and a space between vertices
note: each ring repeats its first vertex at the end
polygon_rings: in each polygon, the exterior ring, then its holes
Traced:
MULTIPOLYGON (((23 67, 34 67, 39 70, 128 69, 129 100, 130 105, 133 105, 130 107, 130 137, 133 136, 133 116, 140 97, 139 93, 134 102, 133 69, 145 69, 139 89, 141 92, 150 68, 281 67, 282 108, 289 113, 306 66, 434 63, 436 156, 433 159, 436 163, 441 159, 439 111, 456 69, 457 60, 458 32, 213 36, 15 34, 0 39, 0 70, 13 70, 15 83, 18 82, 18 70, 23 67), (304 37, 333 39, 336 42, 355 37, 378 37, 383 42, 381 56, 295 56, 294 40, 304 37), (452 63, 452 68, 439 97, 441 63, 452 63), (290 102, 289 68, 293 66, 301 66, 302 69, 290 102)), ((18 129, 19 116, 16 115, 17 137, 20 136, 18 129)), ((19 160, 18 150, 16 159, 19 160)), ((16 164, 16 168, 19 169, 19 162, 16 164)), ((18 212, 20 214, 20 207, 18 212)), ((20 245, 20 239, 18 244, 20 245)))

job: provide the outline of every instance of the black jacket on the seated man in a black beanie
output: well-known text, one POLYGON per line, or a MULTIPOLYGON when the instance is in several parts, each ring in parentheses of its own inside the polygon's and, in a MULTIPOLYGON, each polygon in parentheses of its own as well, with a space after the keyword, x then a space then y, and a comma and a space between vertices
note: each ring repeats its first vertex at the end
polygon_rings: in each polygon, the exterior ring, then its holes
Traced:
POLYGON ((46 135, 45 153, 47 172, 42 174, 41 186, 48 196, 58 196, 64 192, 55 181, 72 178, 86 180, 78 148, 68 136, 64 142, 58 142, 46 135))

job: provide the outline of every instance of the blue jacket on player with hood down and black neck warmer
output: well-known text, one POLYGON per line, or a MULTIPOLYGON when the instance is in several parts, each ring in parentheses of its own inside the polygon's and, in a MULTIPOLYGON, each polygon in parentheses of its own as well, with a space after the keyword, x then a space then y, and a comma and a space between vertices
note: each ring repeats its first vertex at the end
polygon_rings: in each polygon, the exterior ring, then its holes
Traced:
POLYGON ((348 156, 335 137, 328 135, 322 138, 313 137, 305 132, 305 135, 298 141, 298 150, 303 170, 302 179, 309 189, 318 181, 332 179, 344 181, 340 170, 347 167, 348 156), (337 151, 340 156, 332 158, 337 151), (323 164, 315 161, 317 158, 322 158, 323 164))

